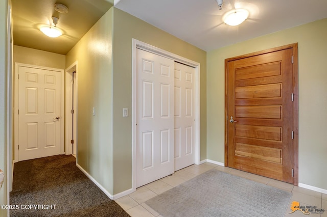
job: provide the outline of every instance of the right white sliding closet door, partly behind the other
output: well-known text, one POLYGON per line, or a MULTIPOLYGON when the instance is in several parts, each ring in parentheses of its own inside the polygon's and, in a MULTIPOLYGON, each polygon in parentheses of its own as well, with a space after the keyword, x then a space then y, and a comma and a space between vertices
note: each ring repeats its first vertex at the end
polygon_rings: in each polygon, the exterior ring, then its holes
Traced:
POLYGON ((195 163, 195 69, 175 63, 175 169, 195 163))

